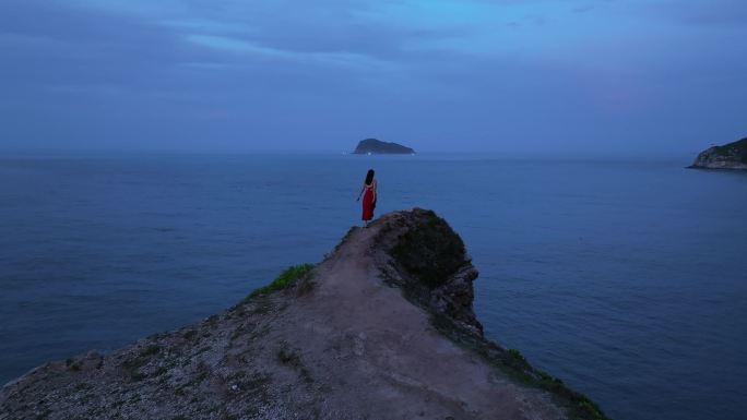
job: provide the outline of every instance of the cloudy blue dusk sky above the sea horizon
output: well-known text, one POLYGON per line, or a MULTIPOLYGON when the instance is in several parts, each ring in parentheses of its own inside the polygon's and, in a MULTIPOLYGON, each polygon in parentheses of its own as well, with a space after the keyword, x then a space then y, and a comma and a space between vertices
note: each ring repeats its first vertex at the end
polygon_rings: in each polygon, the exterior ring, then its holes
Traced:
POLYGON ((0 151, 693 153, 744 0, 0 0, 0 151))

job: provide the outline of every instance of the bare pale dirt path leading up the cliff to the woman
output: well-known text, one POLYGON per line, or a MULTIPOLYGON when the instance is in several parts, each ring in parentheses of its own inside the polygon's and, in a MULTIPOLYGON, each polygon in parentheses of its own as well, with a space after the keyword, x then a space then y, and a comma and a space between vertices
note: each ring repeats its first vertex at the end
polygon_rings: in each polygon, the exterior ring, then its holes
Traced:
POLYGON ((273 333, 328 386, 327 405, 341 409, 340 418, 562 418, 545 395, 459 348, 382 281, 371 247, 381 226, 356 229, 273 333))

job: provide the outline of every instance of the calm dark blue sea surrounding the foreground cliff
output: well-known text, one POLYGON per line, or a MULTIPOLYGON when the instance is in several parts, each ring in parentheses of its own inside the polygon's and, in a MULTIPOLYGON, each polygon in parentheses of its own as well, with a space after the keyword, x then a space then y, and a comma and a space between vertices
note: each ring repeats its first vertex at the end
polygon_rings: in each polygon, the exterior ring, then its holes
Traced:
POLYGON ((490 156, 0 157, 0 383, 221 311, 377 211, 432 208, 486 333, 616 419, 744 419, 747 175, 490 156))

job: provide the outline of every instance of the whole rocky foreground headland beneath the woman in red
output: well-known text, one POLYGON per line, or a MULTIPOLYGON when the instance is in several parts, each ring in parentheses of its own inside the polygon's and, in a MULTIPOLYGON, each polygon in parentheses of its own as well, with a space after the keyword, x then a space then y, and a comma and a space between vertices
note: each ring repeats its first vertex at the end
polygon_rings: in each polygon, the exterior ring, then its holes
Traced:
POLYGON ((443 219, 391 213, 285 289, 33 370, 0 391, 0 420, 604 419, 483 337, 476 276, 443 219))

